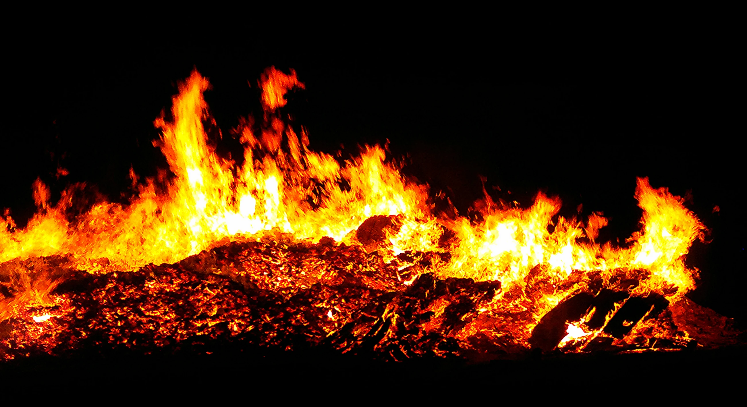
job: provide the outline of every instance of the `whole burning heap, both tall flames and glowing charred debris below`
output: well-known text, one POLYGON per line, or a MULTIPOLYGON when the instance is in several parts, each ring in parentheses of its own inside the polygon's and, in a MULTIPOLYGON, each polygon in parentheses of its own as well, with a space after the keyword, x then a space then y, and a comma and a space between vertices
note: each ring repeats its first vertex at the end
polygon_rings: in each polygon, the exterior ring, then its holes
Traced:
POLYGON ((1 357, 250 344, 485 360, 737 341, 684 296, 705 227, 666 188, 638 179, 642 228, 624 246, 595 241, 604 214, 558 217, 560 199, 542 193, 529 208, 486 193, 471 221, 437 212, 381 146, 347 161, 311 151, 282 114, 304 87, 293 70, 258 84, 263 116, 233 129, 243 160, 208 143, 210 85, 194 71, 155 120, 173 177, 131 172, 128 205, 75 217, 80 185, 53 203, 37 180, 28 226, 0 218, 1 357))

